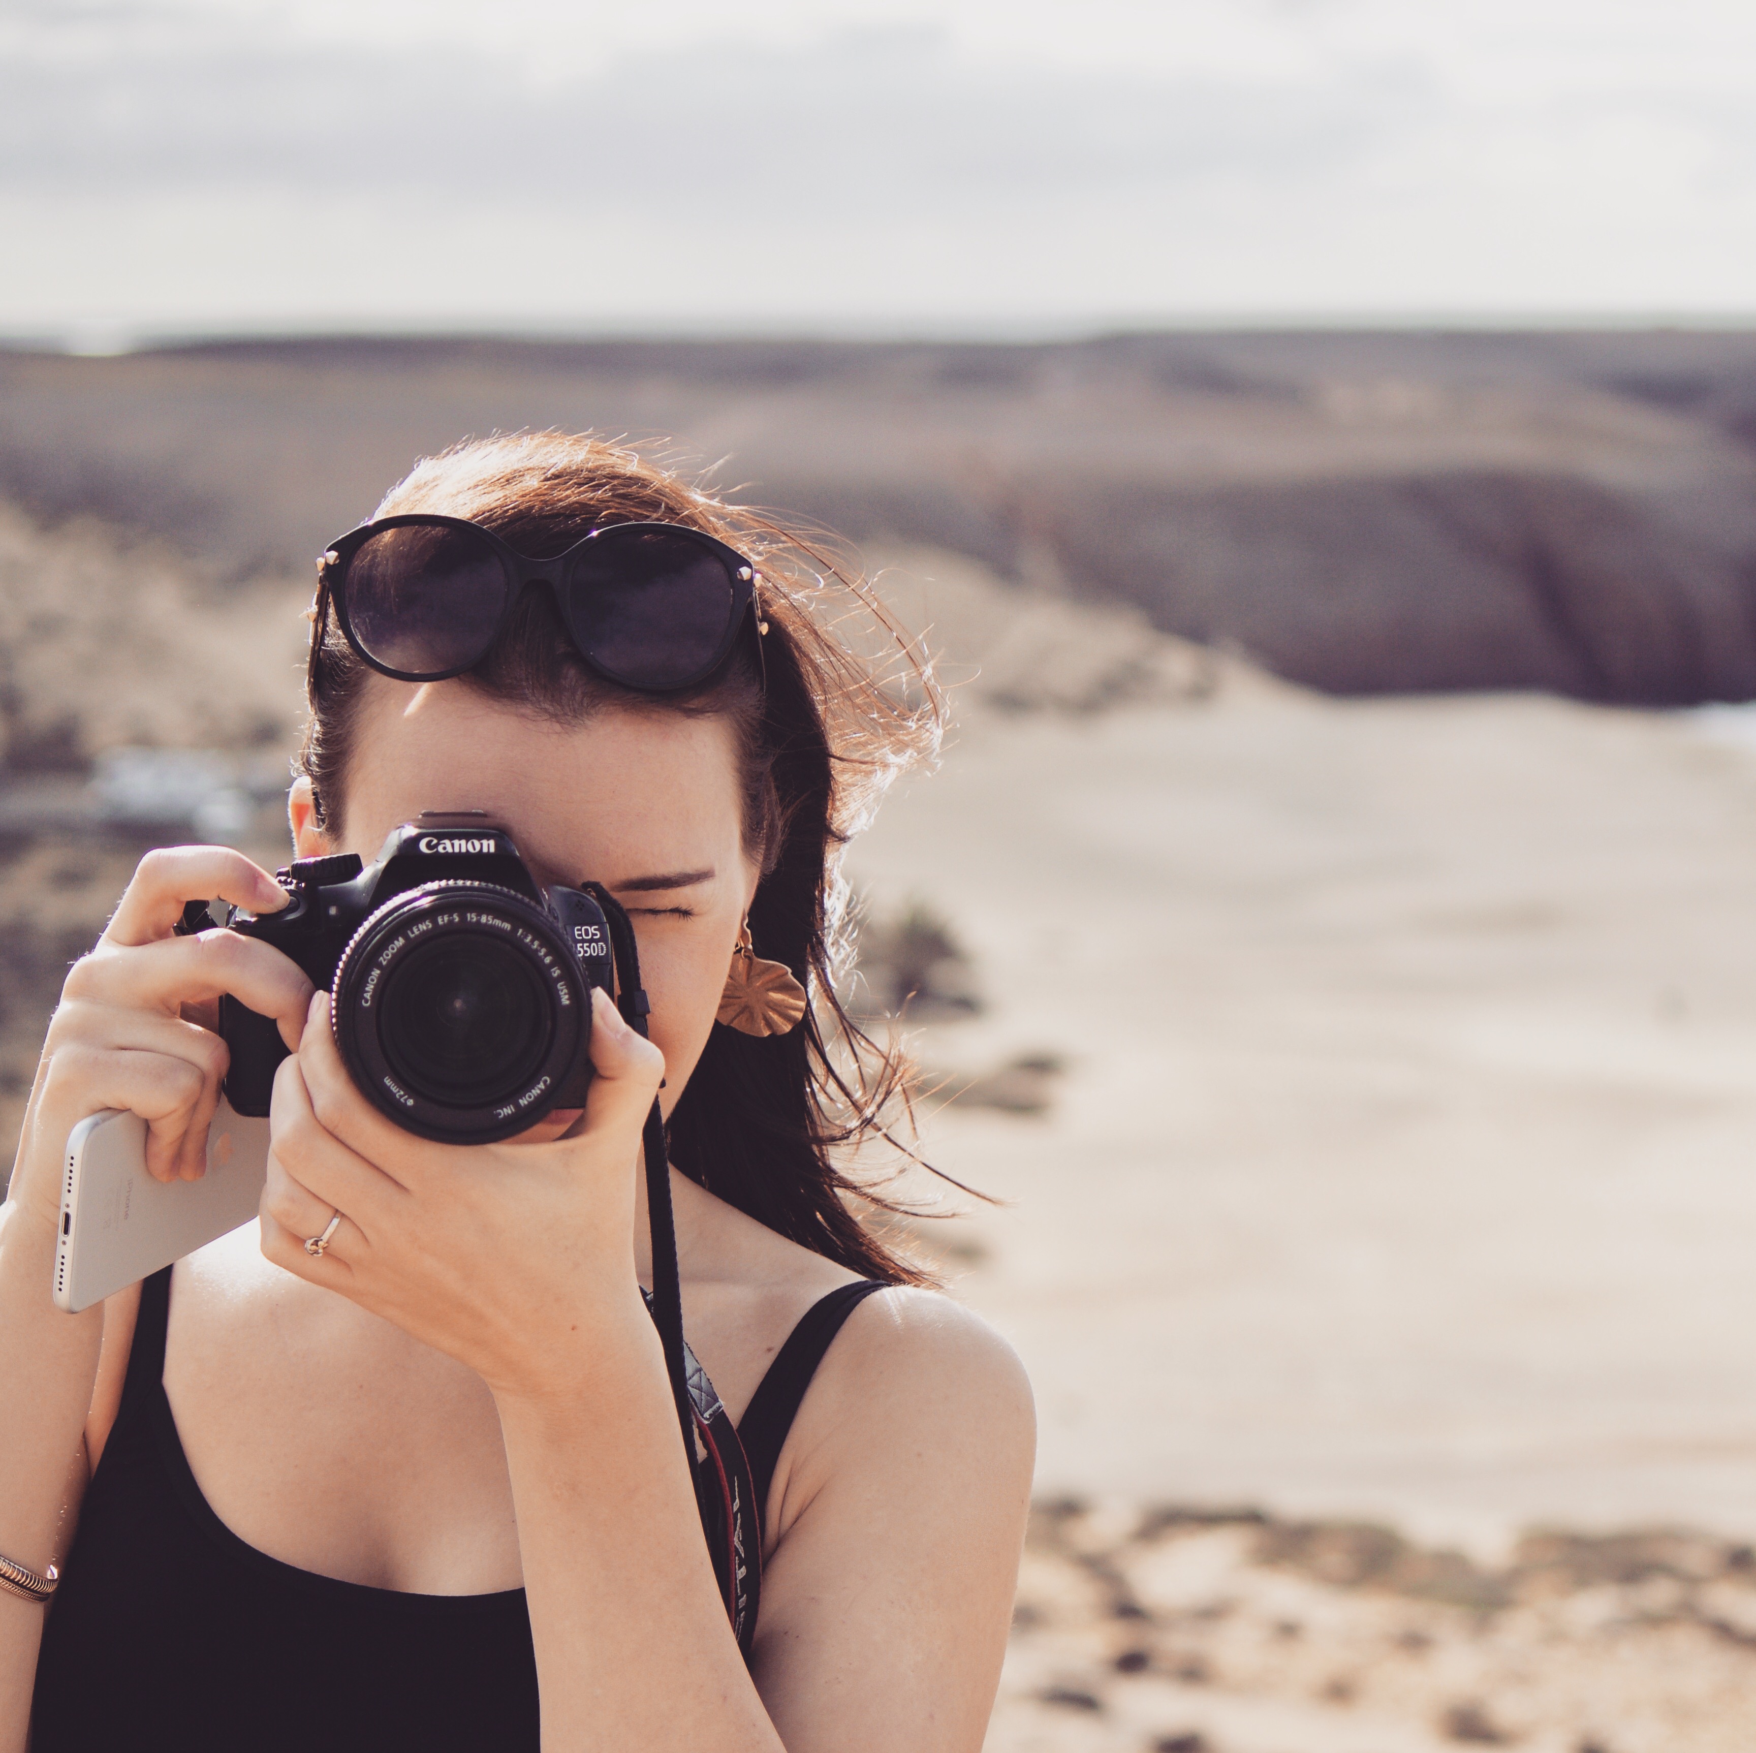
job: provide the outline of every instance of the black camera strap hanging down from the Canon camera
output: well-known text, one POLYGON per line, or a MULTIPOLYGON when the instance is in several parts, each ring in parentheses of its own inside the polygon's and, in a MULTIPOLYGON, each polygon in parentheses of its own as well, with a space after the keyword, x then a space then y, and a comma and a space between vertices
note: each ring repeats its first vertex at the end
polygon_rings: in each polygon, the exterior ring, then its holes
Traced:
MULTIPOLYGON (((630 1029, 648 1035, 651 1003, 641 985, 641 957, 634 926, 620 901, 602 884, 581 885, 604 910, 616 963, 616 1008, 630 1029)), ((695 1488, 695 1509, 708 1540, 732 1635, 748 1662, 755 1644, 762 1586, 755 1484, 743 1444, 725 1407, 683 1340, 683 1288, 676 1265, 676 1219, 671 1210, 671 1158, 666 1151, 664 1110, 653 1101, 641 1131, 646 1163, 646 1224, 651 1237, 653 1288, 646 1307, 658 1328, 666 1375, 683 1432, 683 1454, 695 1488)))

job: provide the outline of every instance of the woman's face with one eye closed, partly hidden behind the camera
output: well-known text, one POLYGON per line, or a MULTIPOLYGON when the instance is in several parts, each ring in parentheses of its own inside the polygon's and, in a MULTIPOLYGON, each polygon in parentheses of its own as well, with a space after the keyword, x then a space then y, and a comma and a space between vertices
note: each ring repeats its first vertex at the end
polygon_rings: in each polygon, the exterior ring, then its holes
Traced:
MULTIPOLYGON (((602 711, 557 725, 462 682, 374 676, 362 703, 342 820, 325 836, 293 789, 299 854, 356 852, 423 810, 483 810, 543 885, 601 882, 629 910, 666 1057, 666 1110, 688 1082, 755 894, 738 766, 722 718, 602 711)), ((557 1110, 529 1138, 553 1138, 557 1110)))

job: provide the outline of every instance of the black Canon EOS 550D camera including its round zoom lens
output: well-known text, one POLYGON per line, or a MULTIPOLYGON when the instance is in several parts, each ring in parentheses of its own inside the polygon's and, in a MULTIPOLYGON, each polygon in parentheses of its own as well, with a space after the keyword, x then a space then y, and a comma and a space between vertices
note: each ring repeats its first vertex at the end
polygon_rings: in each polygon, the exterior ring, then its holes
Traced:
MULTIPOLYGON (((360 1093, 404 1129, 492 1143, 551 1108, 585 1107, 592 987, 615 996, 609 922, 583 889, 541 889, 479 812, 421 815, 362 866, 353 852, 276 873, 288 905, 232 910, 330 991, 360 1093)), ((286 1045, 272 1017, 220 999, 227 1100, 263 1115, 286 1045)))

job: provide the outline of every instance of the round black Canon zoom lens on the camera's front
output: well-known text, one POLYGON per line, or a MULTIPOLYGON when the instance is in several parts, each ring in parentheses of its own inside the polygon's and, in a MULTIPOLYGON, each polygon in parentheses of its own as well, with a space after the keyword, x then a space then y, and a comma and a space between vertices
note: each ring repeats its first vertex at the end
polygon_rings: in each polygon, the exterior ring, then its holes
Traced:
POLYGON ((381 1114, 421 1138, 492 1143, 555 1107, 588 1049, 592 1005, 541 906, 495 884, 430 882, 353 934, 330 1022, 381 1114))

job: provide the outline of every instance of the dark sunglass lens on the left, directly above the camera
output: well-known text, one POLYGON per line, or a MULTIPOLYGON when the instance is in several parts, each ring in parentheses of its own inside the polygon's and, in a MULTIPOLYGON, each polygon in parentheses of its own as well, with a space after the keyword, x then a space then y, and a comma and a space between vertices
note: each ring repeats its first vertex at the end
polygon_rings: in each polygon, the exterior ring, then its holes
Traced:
POLYGON ((406 523, 379 530, 348 562, 348 625, 386 669, 437 676, 486 655, 506 574, 467 529, 406 523))

